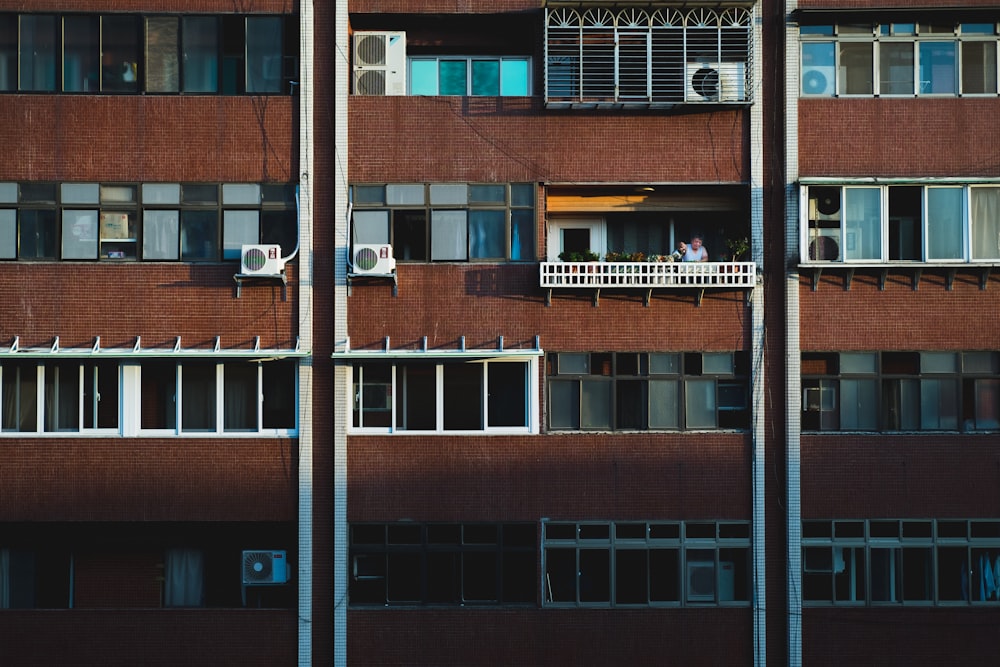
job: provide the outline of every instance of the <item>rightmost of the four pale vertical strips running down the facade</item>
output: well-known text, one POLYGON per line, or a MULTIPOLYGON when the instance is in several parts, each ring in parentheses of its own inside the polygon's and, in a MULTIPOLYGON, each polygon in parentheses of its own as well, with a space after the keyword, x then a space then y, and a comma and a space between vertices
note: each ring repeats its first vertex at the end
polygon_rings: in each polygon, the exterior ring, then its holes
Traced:
MULTIPOLYGON (((785 15, 797 6, 786 0, 785 15)), ((788 522, 788 665, 802 667, 802 505, 799 352, 799 31, 785 23, 785 478, 788 522)))

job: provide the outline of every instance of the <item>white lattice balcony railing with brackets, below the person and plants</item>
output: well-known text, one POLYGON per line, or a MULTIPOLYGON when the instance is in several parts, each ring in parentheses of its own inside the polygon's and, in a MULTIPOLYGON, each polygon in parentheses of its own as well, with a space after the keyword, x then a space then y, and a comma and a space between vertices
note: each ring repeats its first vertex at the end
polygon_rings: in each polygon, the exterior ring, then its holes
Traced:
POLYGON ((654 289, 689 288, 701 304, 705 289, 752 289, 757 284, 754 262, 542 262, 540 285, 548 290, 593 289, 598 305, 603 288, 646 290, 645 305, 654 289))

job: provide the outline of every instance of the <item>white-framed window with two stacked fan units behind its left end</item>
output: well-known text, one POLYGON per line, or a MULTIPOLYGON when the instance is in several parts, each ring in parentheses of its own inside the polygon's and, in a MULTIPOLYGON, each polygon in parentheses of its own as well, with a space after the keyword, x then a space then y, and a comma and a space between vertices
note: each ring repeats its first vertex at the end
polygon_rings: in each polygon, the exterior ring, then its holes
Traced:
POLYGON ((979 262, 1000 258, 1000 187, 803 187, 803 261, 979 262))

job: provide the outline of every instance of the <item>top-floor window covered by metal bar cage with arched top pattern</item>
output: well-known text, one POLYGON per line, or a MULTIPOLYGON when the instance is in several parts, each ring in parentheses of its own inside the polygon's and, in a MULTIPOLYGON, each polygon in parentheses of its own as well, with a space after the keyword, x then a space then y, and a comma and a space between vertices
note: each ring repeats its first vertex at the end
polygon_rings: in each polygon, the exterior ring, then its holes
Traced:
POLYGON ((751 102, 752 16, 749 7, 549 9, 546 102, 751 102))

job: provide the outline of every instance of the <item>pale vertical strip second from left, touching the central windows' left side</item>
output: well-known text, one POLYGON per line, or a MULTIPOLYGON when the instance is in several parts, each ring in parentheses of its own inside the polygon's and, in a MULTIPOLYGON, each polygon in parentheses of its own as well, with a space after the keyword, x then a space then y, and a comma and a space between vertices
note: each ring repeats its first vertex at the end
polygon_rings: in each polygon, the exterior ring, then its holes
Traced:
MULTIPOLYGON (((351 71, 348 68, 350 37, 346 0, 335 0, 333 63, 333 342, 348 340, 347 255, 348 149, 347 102, 351 71)), ((351 367, 333 367, 333 664, 347 667, 347 424, 351 418, 351 367)))

